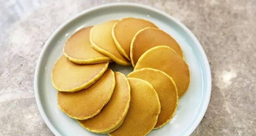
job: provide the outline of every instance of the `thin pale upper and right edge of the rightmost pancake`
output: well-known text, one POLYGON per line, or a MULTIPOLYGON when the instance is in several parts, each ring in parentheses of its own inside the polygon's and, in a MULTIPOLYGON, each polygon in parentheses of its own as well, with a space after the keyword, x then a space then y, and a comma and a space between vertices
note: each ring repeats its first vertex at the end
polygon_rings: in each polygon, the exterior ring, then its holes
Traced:
MULTIPOLYGON (((168 49, 171 49, 173 52, 175 52, 175 51, 174 51, 172 48, 170 48, 169 46, 165 46, 165 45, 155 46, 155 47, 153 47, 153 48, 147 50, 146 52, 144 52, 144 53, 140 56, 140 58, 139 58, 137 64, 138 64, 139 62, 141 62, 142 58, 143 58, 148 52, 150 52, 151 50, 154 50, 155 48, 168 48, 168 49)), ((175 53, 176 53, 176 52, 175 52, 175 53)), ((176 53, 176 54, 177 54, 177 53, 176 53)), ((179 55, 179 54, 178 54, 178 55, 179 55)), ((180 55, 179 55, 179 56, 180 56, 180 55)), ((187 90, 188 90, 188 87, 189 87, 189 85, 190 85, 190 70, 189 70, 189 67, 188 67, 188 65, 187 65, 187 62, 184 60, 184 58, 182 58, 182 59, 183 59, 183 61, 185 62, 186 66, 187 66, 188 74, 189 74, 189 82, 188 82, 188 86, 187 86, 187 90)), ((137 64, 135 65, 133 71, 138 70, 138 68, 137 68, 138 65, 137 65, 137 64)), ((186 90, 181 96, 179 96, 179 99, 187 92, 187 90, 186 90)), ((179 92, 179 91, 178 91, 178 92, 179 92)))

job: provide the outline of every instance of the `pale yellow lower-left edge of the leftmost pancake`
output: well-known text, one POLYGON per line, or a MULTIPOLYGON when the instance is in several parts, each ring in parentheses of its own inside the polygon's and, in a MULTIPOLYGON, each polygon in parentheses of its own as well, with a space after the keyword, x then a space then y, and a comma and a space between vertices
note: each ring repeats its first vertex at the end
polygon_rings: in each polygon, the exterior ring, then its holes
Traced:
MULTIPOLYGON (((60 56, 61 57, 61 56, 60 56)), ((60 59, 60 57, 58 58, 58 60, 60 59)), ((57 61, 58 61, 57 60, 57 61)), ((56 62, 57 62, 56 61, 56 62)), ((56 64, 55 62, 55 64, 56 64)), ((76 92, 76 91, 80 91, 82 89, 86 89, 88 87, 90 87, 91 85, 93 85, 98 79, 100 79, 100 77, 104 74, 104 72, 108 69, 108 66, 109 66, 109 62, 104 62, 106 63, 106 65, 103 67, 103 69, 94 77, 92 78, 90 81, 80 85, 80 86, 77 86, 75 88, 72 88, 72 89, 61 89, 61 88, 58 88, 54 82, 53 82, 53 71, 52 71, 52 74, 51 74, 51 80, 52 80, 52 84, 53 84, 53 87, 58 90, 58 91, 63 91, 63 92, 76 92)), ((55 64, 53 66, 53 69, 55 67, 55 64)))

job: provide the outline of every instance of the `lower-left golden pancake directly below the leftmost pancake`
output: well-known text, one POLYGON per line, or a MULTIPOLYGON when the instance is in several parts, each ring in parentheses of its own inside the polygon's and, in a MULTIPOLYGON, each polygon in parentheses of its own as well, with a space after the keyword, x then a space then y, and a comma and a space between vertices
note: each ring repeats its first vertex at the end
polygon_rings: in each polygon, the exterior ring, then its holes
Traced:
POLYGON ((57 101, 61 111, 79 120, 92 118, 110 100, 115 88, 115 75, 111 69, 92 86, 77 92, 60 92, 57 101))

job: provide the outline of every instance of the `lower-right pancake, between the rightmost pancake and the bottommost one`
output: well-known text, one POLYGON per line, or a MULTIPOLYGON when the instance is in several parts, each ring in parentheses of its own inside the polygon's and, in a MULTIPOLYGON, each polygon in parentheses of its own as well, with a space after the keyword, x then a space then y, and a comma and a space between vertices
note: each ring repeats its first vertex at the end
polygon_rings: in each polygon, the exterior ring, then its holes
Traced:
POLYGON ((127 77, 145 80, 152 84, 156 90, 161 104, 161 112, 154 129, 161 128, 169 122, 176 111, 179 100, 176 84, 173 79, 165 72, 152 68, 135 70, 129 73, 127 77))

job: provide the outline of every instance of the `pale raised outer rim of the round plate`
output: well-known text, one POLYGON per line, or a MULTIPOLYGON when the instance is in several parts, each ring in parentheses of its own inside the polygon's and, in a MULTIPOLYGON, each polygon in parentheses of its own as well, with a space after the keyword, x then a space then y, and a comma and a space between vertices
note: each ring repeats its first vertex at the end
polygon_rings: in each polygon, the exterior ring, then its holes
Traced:
POLYGON ((95 6, 95 7, 91 7, 87 10, 84 10, 78 14, 76 14, 75 16, 71 17, 70 19, 68 19, 67 21, 65 21, 64 23, 62 23, 53 33, 52 35, 47 39, 47 41, 45 42, 40 55, 38 57, 38 61, 37 61, 37 65, 35 67, 35 73, 34 73, 34 95, 35 95, 35 101, 37 103, 37 107, 39 109, 39 112, 44 120, 44 122, 46 123, 46 125, 48 126, 48 128, 53 132, 54 135, 56 136, 62 136, 57 130, 56 128, 53 126, 52 122, 49 120, 49 118, 47 117, 43 105, 41 103, 41 99, 39 97, 39 84, 38 84, 38 75, 39 75, 39 69, 41 67, 41 62, 43 59, 44 54, 46 53, 46 48, 48 47, 49 43, 53 40, 53 38, 58 34, 58 32, 63 29, 68 23, 70 23, 71 21, 73 21, 76 18, 79 18, 80 16, 92 12, 92 11, 96 11, 99 10, 101 8, 106 8, 106 7, 112 7, 112 6, 133 6, 133 7, 139 7, 139 8, 144 8, 146 10, 151 10, 154 11, 158 14, 162 14, 163 16, 169 18, 170 20, 174 21, 177 25, 179 25, 182 29, 184 29, 188 35, 192 38, 192 40, 194 40, 194 42, 196 43, 196 46, 198 46, 199 51, 201 52, 201 54, 203 55, 203 63, 206 66, 205 67, 205 75, 206 75, 206 82, 208 83, 206 86, 206 90, 205 90, 205 100, 206 102, 203 103, 202 105, 202 112, 199 113, 198 118, 196 119, 195 123, 193 126, 190 127, 190 129, 185 133, 186 136, 191 135, 197 128, 197 126, 199 125, 199 123, 201 122, 201 120, 203 119, 203 116, 205 114, 205 112, 207 111, 209 102, 210 102, 210 96, 211 96, 211 88, 212 88, 212 78, 211 78, 211 69, 210 69, 210 65, 209 65, 209 61, 207 59, 207 56, 201 46, 201 44, 199 43, 198 39, 195 37, 195 35, 180 21, 178 21, 177 19, 175 19, 174 17, 170 16, 169 14, 162 12, 160 10, 157 10, 156 8, 153 8, 151 6, 147 6, 147 5, 143 5, 143 4, 137 4, 137 3, 108 3, 108 4, 103 4, 103 5, 99 5, 99 6, 95 6))

